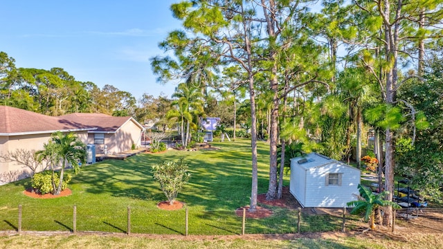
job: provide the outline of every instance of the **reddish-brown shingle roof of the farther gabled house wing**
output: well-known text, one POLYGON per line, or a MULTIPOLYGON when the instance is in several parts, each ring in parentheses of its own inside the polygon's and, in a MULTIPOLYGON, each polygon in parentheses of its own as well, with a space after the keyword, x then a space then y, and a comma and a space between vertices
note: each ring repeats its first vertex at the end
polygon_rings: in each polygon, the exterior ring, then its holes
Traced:
POLYGON ((58 117, 67 122, 95 127, 95 132, 115 132, 132 117, 113 117, 102 113, 71 113, 58 117))

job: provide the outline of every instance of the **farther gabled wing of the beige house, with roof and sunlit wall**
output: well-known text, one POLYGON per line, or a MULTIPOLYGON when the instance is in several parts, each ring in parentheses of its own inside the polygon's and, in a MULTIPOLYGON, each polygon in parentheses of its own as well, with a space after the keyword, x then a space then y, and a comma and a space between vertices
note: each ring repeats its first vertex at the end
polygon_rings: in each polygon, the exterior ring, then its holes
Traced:
POLYGON ((88 131, 86 143, 96 145, 98 153, 115 154, 141 146, 144 127, 132 117, 71 113, 58 118, 61 122, 93 128, 88 131))

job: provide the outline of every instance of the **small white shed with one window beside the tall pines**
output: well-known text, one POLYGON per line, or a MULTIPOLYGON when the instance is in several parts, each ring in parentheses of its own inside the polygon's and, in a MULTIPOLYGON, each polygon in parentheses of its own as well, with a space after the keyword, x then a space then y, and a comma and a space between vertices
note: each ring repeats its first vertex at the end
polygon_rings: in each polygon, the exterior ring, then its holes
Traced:
POLYGON ((360 170, 316 153, 291 159, 289 192, 305 208, 343 208, 359 195, 360 170))

